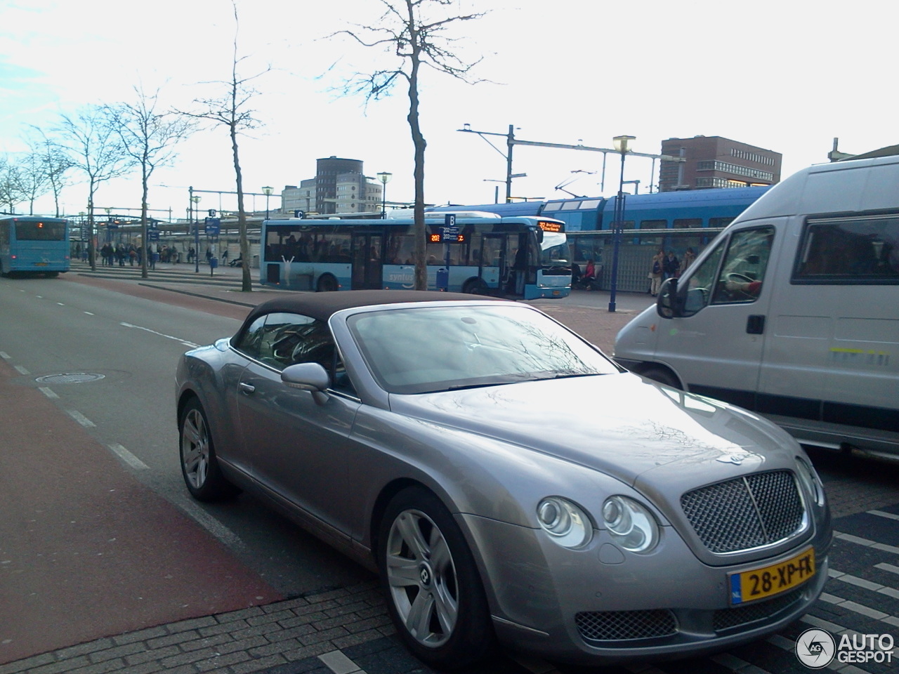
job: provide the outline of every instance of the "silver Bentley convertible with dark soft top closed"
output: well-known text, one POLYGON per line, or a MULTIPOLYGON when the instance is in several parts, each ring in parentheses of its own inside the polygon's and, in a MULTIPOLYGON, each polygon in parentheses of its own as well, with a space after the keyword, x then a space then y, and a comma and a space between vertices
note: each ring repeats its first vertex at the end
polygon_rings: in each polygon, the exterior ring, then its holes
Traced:
POLYGON ((787 433, 619 368, 521 303, 285 295, 177 370, 200 501, 253 492, 378 572, 408 648, 651 661, 760 639, 827 579, 787 433))

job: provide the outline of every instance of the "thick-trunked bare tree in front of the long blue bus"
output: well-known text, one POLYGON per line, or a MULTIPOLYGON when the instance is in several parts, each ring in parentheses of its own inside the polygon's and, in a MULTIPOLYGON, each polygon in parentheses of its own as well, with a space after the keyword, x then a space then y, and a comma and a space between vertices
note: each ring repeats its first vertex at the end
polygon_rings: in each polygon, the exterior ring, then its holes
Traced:
MULTIPOLYGON (((422 67, 431 67, 439 73, 452 75, 465 82, 469 71, 481 59, 463 61, 453 51, 457 39, 446 33, 458 22, 479 19, 485 13, 447 15, 458 5, 458 0, 379 0, 385 11, 372 26, 356 25, 353 30, 338 31, 335 35, 348 35, 364 47, 378 47, 396 57, 395 65, 377 69, 369 74, 357 74, 346 84, 347 93, 362 93, 366 101, 378 100, 389 95, 394 84, 405 81, 409 96, 409 113, 406 120, 412 132, 414 145, 414 234, 415 234, 415 289, 428 286, 428 270, 424 263, 424 149, 427 142, 419 121, 419 77, 422 67)), ((474 83, 472 83, 474 84, 474 83)))

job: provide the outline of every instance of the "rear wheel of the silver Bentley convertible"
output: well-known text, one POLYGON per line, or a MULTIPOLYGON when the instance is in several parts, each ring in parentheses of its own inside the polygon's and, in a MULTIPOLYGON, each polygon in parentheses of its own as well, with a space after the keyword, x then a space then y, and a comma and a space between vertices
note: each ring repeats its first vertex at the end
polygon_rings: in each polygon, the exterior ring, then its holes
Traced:
POLYGON ((196 398, 184 406, 178 429, 181 473, 191 496, 197 501, 221 501, 236 496, 239 490, 225 479, 218 466, 209 421, 196 398))

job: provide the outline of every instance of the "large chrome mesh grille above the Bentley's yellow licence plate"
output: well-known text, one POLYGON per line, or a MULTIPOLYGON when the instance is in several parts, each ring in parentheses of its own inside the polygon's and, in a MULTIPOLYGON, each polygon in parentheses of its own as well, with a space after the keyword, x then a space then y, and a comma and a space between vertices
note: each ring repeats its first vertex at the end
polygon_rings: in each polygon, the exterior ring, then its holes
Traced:
POLYGON ((713 553, 768 545, 802 526, 805 509, 786 470, 710 484, 681 497, 697 536, 713 553))

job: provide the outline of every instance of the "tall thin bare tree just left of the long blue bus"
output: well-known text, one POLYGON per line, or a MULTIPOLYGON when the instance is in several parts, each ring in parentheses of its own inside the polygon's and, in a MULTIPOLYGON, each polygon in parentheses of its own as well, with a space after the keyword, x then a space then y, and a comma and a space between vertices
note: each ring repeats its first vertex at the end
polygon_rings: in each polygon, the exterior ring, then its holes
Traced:
MULTIPOLYGON (((240 28, 240 22, 238 21, 237 5, 234 0, 232 0, 231 4, 234 8, 235 22, 231 77, 227 81, 204 83, 224 85, 227 87, 226 93, 213 98, 194 99, 193 102, 198 106, 197 111, 179 111, 179 113, 195 120, 208 120, 214 126, 221 125, 228 130, 228 135, 231 138, 231 155, 234 158, 234 173, 237 186, 237 229, 240 235, 240 258, 242 261, 241 269, 243 270, 241 290, 252 292, 250 242, 246 235, 246 210, 244 208, 244 177, 240 169, 237 137, 244 131, 257 129, 262 125, 262 122, 254 117, 255 111, 249 108, 250 101, 259 93, 254 90, 250 83, 257 77, 269 72, 271 68, 267 67, 262 72, 247 77, 238 75, 238 67, 247 57, 237 56, 237 33, 240 28)), ((200 251, 197 251, 197 254, 199 255, 200 251)))

